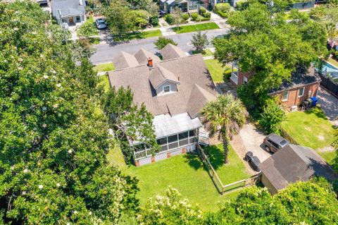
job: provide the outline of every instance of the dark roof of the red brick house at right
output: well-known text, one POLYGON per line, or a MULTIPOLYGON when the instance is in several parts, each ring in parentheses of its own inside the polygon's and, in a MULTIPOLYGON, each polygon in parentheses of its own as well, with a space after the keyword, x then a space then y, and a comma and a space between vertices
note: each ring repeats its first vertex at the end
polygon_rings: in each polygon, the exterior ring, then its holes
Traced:
POLYGON ((320 78, 315 75, 313 66, 306 69, 304 67, 296 68, 296 71, 292 72, 290 80, 284 80, 279 88, 270 90, 270 93, 281 92, 284 90, 291 90, 296 87, 309 85, 312 83, 320 82, 320 78))

